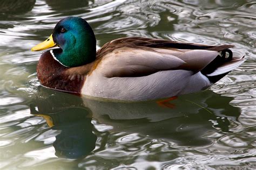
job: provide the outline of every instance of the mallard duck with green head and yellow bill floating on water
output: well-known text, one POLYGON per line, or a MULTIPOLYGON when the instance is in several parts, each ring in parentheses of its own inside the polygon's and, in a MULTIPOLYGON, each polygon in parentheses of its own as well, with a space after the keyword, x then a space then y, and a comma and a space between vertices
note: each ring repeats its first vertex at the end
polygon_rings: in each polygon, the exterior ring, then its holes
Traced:
POLYGON ((60 20, 51 36, 31 50, 56 47, 38 61, 37 77, 48 88, 86 96, 145 101, 210 87, 245 61, 233 45, 210 46, 126 37, 96 52, 90 25, 79 17, 60 20))

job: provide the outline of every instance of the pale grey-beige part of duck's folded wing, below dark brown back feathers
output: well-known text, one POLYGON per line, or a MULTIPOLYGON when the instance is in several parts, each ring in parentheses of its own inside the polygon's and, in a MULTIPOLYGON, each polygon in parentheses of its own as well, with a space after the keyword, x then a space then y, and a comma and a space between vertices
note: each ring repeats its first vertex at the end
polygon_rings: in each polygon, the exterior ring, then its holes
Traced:
POLYGON ((218 52, 206 50, 158 49, 123 47, 104 55, 97 71, 105 77, 138 77, 163 70, 185 69, 198 72, 208 65, 218 52))

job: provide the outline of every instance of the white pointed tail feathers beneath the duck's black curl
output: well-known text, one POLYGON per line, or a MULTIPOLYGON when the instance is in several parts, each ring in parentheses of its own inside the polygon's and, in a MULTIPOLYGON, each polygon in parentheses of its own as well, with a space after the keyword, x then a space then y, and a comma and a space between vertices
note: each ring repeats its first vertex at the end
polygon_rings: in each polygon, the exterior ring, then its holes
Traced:
POLYGON ((211 74, 207 74, 207 76, 215 76, 215 75, 220 75, 220 74, 230 72, 232 69, 237 68, 245 61, 246 61, 246 59, 228 62, 225 65, 220 66, 217 69, 215 69, 214 72, 212 72, 211 74))

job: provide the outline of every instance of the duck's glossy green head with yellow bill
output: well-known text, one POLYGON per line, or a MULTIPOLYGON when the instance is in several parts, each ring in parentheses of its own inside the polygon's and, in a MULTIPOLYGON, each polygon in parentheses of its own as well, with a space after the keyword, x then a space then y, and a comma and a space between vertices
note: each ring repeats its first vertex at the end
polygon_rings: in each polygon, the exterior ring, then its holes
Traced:
POLYGON ((51 36, 31 51, 59 46, 50 52, 53 58, 66 67, 77 67, 90 63, 96 58, 96 38, 90 25, 79 17, 60 20, 51 36))

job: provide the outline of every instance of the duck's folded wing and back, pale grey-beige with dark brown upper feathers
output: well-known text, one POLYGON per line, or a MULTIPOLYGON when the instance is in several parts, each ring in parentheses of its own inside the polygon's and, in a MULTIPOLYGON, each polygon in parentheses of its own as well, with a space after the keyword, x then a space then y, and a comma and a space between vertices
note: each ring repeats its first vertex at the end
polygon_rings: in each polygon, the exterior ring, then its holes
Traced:
POLYGON ((218 50, 215 46, 170 40, 121 38, 97 51, 101 59, 97 70, 106 77, 137 77, 176 69, 197 73, 219 55, 218 50))

